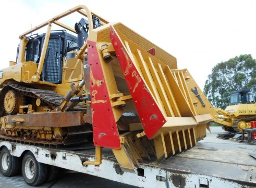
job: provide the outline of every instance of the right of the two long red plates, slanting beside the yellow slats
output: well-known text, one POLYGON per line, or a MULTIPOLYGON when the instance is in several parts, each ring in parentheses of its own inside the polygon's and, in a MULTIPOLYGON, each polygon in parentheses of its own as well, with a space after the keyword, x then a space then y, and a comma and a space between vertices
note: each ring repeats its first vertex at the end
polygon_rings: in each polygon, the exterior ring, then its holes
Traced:
POLYGON ((135 103, 145 134, 151 139, 155 133, 165 124, 166 119, 151 96, 147 84, 144 83, 140 73, 136 69, 125 50, 118 34, 111 26, 110 38, 116 52, 116 56, 124 73, 133 102, 135 103))

